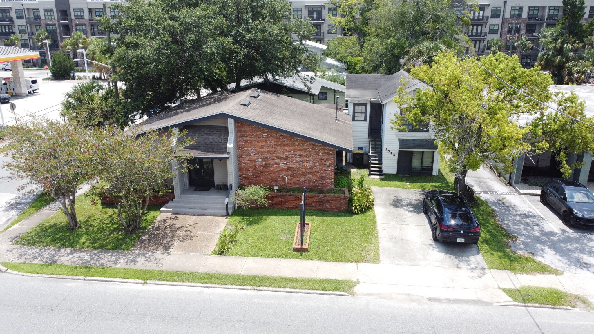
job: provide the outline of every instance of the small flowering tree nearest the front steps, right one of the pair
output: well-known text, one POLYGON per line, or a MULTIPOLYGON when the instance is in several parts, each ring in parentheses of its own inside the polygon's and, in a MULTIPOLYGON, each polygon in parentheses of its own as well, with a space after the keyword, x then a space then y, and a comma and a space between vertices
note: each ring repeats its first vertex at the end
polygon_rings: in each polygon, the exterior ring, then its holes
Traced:
POLYGON ((191 140, 183 138, 184 134, 177 129, 141 134, 137 127, 95 132, 100 147, 96 166, 100 182, 91 193, 115 200, 126 231, 137 231, 151 198, 166 193, 167 180, 187 171, 189 156, 180 149, 191 140))

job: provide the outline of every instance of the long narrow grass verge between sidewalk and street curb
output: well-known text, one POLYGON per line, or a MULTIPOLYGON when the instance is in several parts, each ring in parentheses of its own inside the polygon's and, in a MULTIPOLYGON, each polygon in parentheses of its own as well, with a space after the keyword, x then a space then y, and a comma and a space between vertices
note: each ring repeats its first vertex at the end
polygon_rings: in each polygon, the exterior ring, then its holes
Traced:
POLYGON ((2 266, 17 272, 49 275, 141 279, 143 281, 191 282, 220 285, 270 286, 274 288, 349 292, 359 282, 320 278, 286 278, 255 275, 174 272, 168 270, 65 266, 63 264, 10 263, 2 266))

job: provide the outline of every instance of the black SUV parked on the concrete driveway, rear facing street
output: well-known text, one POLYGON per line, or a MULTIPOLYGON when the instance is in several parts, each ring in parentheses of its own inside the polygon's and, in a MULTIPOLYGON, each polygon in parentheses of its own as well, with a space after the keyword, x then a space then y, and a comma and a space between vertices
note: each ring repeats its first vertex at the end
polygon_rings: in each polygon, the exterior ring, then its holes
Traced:
POLYGON ((431 220, 435 241, 476 244, 481 238, 481 226, 466 198, 453 191, 428 191, 423 199, 423 212, 431 220))

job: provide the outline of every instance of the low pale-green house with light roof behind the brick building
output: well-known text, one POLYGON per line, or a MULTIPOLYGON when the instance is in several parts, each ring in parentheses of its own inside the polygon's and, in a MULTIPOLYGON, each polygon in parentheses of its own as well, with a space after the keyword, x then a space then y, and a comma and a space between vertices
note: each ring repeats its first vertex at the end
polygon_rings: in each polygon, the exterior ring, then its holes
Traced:
MULTIPOLYGON (((235 90, 235 83, 229 84, 228 87, 229 90, 235 90)), ((336 97, 339 97, 340 104, 345 105, 345 86, 309 74, 274 78, 270 81, 266 81, 261 77, 242 80, 241 89, 247 88, 266 90, 267 92, 282 94, 314 104, 330 103, 332 106, 336 103, 336 97)))

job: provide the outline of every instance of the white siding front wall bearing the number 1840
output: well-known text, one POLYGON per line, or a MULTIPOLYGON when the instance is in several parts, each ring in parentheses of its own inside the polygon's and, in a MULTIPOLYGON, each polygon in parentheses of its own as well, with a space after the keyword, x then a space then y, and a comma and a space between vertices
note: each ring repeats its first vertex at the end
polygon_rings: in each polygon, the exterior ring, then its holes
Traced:
MULTIPOLYGON (((396 174, 398 167, 398 138, 418 138, 418 139, 434 139, 432 131, 429 132, 407 132, 397 131, 390 128, 390 119, 394 118, 394 115, 400 114, 400 109, 394 103, 394 101, 386 102, 383 123, 383 137, 381 146, 384 150, 382 156, 383 171, 386 174, 396 174), (389 152, 388 152, 389 150, 389 152)), ((353 122, 354 123, 354 122, 353 122)), ((354 131, 353 131, 354 137, 354 131)), ((436 152, 433 160, 433 175, 437 175, 439 170, 439 154, 436 152)))

